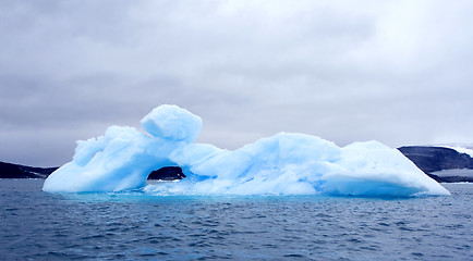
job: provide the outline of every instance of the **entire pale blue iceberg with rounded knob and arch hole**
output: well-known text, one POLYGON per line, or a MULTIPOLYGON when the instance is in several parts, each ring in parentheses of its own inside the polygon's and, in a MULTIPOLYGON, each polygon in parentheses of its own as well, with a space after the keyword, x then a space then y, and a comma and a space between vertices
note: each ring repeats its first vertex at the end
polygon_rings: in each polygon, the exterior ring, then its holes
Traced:
POLYGON ((186 178, 148 185, 156 195, 450 195, 396 149, 377 141, 343 148, 303 134, 277 134, 238 150, 193 144, 201 117, 160 105, 142 121, 150 135, 111 126, 78 141, 72 162, 52 173, 45 191, 120 191, 143 188, 149 173, 181 166, 186 178))

